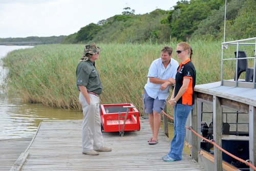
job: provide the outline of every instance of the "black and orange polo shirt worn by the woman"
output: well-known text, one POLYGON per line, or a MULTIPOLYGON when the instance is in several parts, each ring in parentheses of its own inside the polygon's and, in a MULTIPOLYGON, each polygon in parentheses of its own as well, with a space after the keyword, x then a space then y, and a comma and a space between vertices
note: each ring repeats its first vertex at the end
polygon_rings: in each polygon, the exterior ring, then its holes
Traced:
POLYGON ((194 104, 194 87, 196 86, 196 69, 190 59, 180 63, 176 74, 175 96, 178 94, 184 78, 190 78, 188 88, 177 101, 179 104, 194 104))

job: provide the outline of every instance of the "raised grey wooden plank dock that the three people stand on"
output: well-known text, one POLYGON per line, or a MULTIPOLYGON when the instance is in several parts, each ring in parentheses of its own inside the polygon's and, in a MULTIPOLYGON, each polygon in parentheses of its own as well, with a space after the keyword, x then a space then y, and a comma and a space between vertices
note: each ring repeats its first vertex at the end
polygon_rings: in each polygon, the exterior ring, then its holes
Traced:
POLYGON ((11 170, 204 170, 183 152, 183 160, 165 162, 161 156, 170 149, 170 140, 160 129, 159 143, 149 145, 148 119, 140 118, 141 130, 103 133, 112 152, 98 156, 82 154, 82 120, 43 121, 26 151, 11 170))

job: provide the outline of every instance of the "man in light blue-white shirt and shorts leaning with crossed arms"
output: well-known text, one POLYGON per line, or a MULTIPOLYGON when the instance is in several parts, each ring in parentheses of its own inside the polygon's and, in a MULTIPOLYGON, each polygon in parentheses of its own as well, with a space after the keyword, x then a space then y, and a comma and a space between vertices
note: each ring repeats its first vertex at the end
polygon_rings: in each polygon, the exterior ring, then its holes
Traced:
POLYGON ((169 86, 175 83, 179 63, 172 58, 173 48, 164 46, 161 58, 151 63, 144 87, 144 109, 148 113, 153 136, 148 144, 158 143, 161 113, 169 96, 169 86))

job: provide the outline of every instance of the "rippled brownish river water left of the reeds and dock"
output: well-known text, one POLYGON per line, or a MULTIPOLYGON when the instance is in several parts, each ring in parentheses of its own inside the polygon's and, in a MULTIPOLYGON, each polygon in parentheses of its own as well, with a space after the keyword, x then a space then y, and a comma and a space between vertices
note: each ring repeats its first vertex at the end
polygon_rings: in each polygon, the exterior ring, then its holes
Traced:
MULTIPOLYGON (((0 58, 15 49, 29 46, 0 46, 0 58)), ((8 72, 0 62, 0 84, 8 72)), ((3 92, 2 92, 3 93, 3 92)), ((0 96, 0 139, 33 137, 37 126, 43 120, 82 119, 82 113, 48 108, 42 104, 24 103, 21 99, 0 96)))

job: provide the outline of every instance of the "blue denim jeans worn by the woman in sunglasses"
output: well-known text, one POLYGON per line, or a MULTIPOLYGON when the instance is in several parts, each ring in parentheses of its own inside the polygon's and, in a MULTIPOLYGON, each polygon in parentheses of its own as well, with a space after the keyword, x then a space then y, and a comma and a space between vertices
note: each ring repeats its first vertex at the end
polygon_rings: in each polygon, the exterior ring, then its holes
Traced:
POLYGON ((185 124, 193 105, 176 104, 174 106, 174 138, 170 144, 168 156, 176 161, 182 160, 182 151, 185 140, 185 124))

